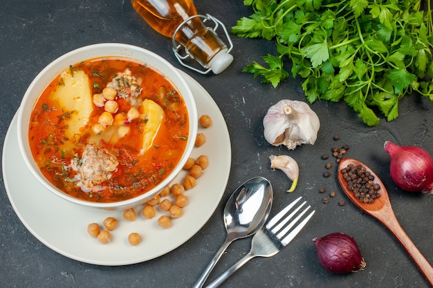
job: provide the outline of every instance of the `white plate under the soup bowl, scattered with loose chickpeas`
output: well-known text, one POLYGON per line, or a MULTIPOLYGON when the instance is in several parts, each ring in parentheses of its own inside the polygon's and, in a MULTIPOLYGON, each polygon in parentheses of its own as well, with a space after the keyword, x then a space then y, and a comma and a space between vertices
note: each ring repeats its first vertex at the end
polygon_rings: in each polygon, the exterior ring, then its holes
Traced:
MULTIPOLYGON (((103 211, 80 207, 67 202, 48 191, 28 170, 19 152, 17 117, 12 119, 3 146, 3 180, 12 207, 21 222, 39 241, 50 249, 78 261, 95 265, 129 265, 154 259, 176 249, 190 239, 208 222, 218 206, 228 182, 231 164, 231 147, 228 129, 223 115, 209 93, 185 73, 182 75, 192 89, 200 115, 212 118, 210 128, 199 127, 206 142, 195 147, 192 157, 208 155, 210 165, 197 179, 194 189, 185 191, 189 204, 183 216, 172 220, 172 227, 158 227, 157 218, 166 212, 156 209, 156 217, 145 219, 136 209, 133 222, 123 220, 122 211, 103 211), (112 240, 100 244, 86 231, 91 222, 102 221, 108 216, 118 219, 118 227, 111 231, 112 240), (142 241, 131 246, 128 235, 140 233, 142 241)), ((185 172, 176 177, 181 182, 185 172)))

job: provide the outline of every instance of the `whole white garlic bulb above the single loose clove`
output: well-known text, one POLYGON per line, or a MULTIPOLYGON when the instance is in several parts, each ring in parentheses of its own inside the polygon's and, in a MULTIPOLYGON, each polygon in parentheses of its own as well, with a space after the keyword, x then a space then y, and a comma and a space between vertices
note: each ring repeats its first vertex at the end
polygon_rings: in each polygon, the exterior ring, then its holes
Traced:
POLYGON ((270 106, 263 126, 266 141, 293 150, 301 144, 314 144, 320 121, 305 102, 284 99, 270 106))

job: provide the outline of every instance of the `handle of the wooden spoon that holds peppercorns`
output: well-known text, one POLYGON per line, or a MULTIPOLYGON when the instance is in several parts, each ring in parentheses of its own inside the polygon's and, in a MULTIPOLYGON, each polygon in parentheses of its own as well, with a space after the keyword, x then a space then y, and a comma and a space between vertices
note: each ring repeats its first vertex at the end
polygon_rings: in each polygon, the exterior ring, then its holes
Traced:
POLYGON ((397 218, 389 218, 387 221, 384 221, 385 226, 391 231, 391 233, 396 236, 400 244, 405 248, 409 256, 414 260, 418 269, 424 274, 425 278, 430 282, 430 285, 433 287, 433 267, 430 263, 425 259, 423 253, 416 248, 414 242, 410 240, 409 236, 407 236, 406 232, 400 226, 397 218))

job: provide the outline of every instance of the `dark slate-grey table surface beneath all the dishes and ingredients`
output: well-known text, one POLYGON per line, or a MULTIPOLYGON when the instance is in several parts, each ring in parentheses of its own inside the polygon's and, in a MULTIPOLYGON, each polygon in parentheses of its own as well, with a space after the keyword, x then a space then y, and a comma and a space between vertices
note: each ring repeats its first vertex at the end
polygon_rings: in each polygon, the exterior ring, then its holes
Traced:
MULTIPOLYGON (((241 0, 198 0, 195 4, 199 12, 212 14, 228 28, 251 13, 241 0)), ((302 81, 290 78, 272 88, 241 72, 250 61, 268 52, 275 54, 273 42, 232 35, 232 65, 221 75, 204 76, 178 64, 171 40, 149 28, 129 1, 3 1, 0 23, 1 142, 26 88, 44 66, 75 48, 120 42, 156 52, 194 77, 219 106, 232 146, 227 188, 210 220, 181 247, 135 265, 91 265, 52 251, 21 224, 1 185, 0 287, 192 287, 225 239, 225 201, 241 182, 256 175, 267 177, 273 184, 272 214, 299 195, 316 214, 283 251, 273 258, 251 260, 222 287, 428 287, 396 238, 348 202, 338 186, 336 170, 332 170, 331 177, 322 177, 325 168, 320 159, 337 143, 333 135, 340 135, 337 144, 350 146, 348 157, 365 162, 380 175, 401 226, 433 262, 433 196, 399 189, 389 176, 389 156, 383 150, 384 142, 390 140, 403 146, 421 146, 433 153, 433 106, 427 99, 419 95, 405 97, 400 102, 400 116, 393 122, 382 119, 376 127, 365 126, 344 103, 316 102, 311 107, 321 121, 317 142, 287 151, 266 142, 262 119, 268 107, 279 99, 306 101, 302 81), (280 171, 270 170, 268 157, 273 154, 291 155, 300 165, 295 192, 286 193, 290 181, 280 171), (321 187, 337 192, 328 204, 322 203, 328 192, 320 194, 321 187), (340 207, 339 200, 346 204, 340 207), (312 239, 333 232, 344 232, 356 239, 367 262, 365 271, 333 275, 321 267, 312 239)), ((209 280, 228 269, 249 247, 250 239, 230 245, 209 280)))

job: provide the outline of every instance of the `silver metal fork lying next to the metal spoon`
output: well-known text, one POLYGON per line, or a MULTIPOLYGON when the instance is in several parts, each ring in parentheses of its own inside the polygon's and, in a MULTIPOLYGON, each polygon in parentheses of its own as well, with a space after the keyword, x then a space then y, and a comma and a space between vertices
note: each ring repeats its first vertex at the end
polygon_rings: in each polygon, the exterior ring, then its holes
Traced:
POLYGON ((222 282, 227 280, 234 272, 236 272, 239 268, 241 268, 246 262, 255 258, 257 256, 260 257, 271 257, 276 253, 281 251, 286 245, 297 236, 302 228, 304 228, 305 224, 310 220, 310 218, 314 214, 314 210, 300 222, 296 227, 298 221, 304 216, 304 214, 311 208, 311 206, 306 207, 303 211, 300 211, 302 207, 306 204, 304 201, 297 207, 293 212, 291 212, 286 218, 282 219, 284 215, 288 213, 297 202, 300 202, 302 197, 297 198, 291 204, 288 204, 286 208, 280 211, 277 215, 275 215, 269 222, 266 224, 266 227, 262 227, 255 236, 252 237, 251 249, 246 256, 243 256, 241 260, 239 260, 236 264, 230 267, 227 271, 221 274, 218 278, 214 280, 214 282, 210 283, 207 288, 214 288, 221 285, 222 282), (296 217, 295 217, 296 216, 296 217), (292 218, 294 218, 291 222, 289 222, 292 218), (290 233, 288 233, 290 231, 290 233))

